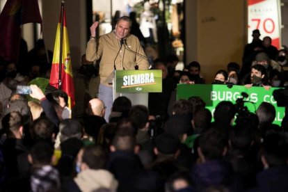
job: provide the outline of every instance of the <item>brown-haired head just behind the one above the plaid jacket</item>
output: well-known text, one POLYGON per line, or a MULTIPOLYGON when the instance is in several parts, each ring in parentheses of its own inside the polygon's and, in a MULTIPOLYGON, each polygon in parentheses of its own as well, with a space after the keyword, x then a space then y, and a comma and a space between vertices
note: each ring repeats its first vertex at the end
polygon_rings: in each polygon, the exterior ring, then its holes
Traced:
POLYGON ((54 138, 54 131, 54 123, 46 117, 40 117, 33 122, 30 134, 33 141, 45 140, 51 142, 54 138))

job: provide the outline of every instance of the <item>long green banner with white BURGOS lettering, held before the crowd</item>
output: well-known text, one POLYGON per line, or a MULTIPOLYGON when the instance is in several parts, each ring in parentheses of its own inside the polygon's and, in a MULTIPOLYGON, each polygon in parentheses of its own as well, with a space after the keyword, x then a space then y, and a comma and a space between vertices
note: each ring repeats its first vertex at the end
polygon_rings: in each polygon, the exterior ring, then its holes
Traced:
POLYGON ((243 99, 245 106, 252 113, 258 109, 262 102, 269 102, 275 106, 276 117, 273 123, 281 125, 285 115, 285 107, 277 106, 277 102, 273 97, 273 91, 278 88, 270 88, 265 90, 263 87, 246 88, 245 86, 233 86, 228 88, 225 85, 177 85, 177 99, 188 99, 191 96, 200 97, 205 103, 206 108, 214 113, 217 104, 222 101, 230 101, 236 103, 238 98, 241 98, 241 93, 247 93, 248 98, 243 99))

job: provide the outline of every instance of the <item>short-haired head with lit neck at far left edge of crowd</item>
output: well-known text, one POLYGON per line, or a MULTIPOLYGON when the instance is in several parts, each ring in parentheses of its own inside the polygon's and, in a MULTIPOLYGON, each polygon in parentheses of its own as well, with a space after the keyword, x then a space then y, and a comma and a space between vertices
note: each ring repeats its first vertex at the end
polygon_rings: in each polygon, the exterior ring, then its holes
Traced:
POLYGON ((22 125, 22 115, 17 111, 8 113, 2 118, 3 130, 10 138, 22 138, 24 131, 22 125))

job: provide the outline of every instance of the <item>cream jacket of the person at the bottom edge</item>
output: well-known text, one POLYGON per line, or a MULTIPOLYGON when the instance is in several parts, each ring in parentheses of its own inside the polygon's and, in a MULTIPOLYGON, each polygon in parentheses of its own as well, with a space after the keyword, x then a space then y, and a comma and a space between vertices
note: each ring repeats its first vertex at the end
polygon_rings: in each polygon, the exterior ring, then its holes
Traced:
POLYGON ((95 191, 99 188, 116 190, 118 187, 118 181, 108 170, 83 170, 74 178, 74 182, 83 192, 95 191))

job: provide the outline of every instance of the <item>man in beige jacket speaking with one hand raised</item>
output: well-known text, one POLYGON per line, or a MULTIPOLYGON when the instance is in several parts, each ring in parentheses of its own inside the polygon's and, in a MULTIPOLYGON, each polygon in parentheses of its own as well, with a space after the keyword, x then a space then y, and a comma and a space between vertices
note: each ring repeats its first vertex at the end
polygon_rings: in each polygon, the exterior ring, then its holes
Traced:
POLYGON ((87 61, 100 61, 99 99, 106 106, 105 119, 108 122, 113 104, 112 82, 114 70, 147 70, 149 63, 135 35, 129 34, 131 19, 120 17, 111 33, 101 35, 96 39, 98 22, 90 26, 90 40, 87 43, 87 61))

